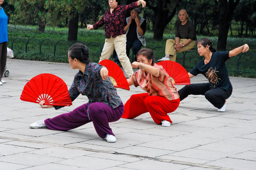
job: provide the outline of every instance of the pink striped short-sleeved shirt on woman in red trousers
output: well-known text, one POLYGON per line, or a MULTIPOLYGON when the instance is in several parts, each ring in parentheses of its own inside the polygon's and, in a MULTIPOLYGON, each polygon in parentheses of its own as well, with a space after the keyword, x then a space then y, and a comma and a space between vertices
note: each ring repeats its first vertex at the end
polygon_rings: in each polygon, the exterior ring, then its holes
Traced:
POLYGON ((132 81, 135 87, 140 86, 141 89, 148 92, 150 96, 165 97, 169 101, 179 99, 177 88, 173 85, 172 78, 164 70, 162 66, 154 64, 160 71, 159 77, 153 76, 145 71, 139 69, 136 73, 132 74, 132 81))

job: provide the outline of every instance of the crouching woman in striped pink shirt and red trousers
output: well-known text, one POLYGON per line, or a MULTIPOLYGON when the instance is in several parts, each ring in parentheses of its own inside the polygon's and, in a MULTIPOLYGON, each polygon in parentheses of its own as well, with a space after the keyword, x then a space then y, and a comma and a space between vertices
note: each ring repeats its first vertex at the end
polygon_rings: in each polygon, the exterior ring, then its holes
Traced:
POLYGON ((172 120, 167 115, 175 111, 180 103, 179 94, 172 78, 154 63, 154 52, 142 48, 137 53, 138 62, 132 62, 133 68, 140 68, 127 81, 129 85, 140 86, 147 93, 134 94, 125 103, 122 118, 135 118, 149 112, 156 124, 170 126, 172 120))

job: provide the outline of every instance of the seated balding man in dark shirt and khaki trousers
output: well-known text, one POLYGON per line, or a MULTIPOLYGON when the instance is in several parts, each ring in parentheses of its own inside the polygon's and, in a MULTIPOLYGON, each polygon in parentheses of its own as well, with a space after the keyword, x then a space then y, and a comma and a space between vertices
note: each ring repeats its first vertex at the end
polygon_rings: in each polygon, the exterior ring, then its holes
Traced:
POLYGON ((176 53, 181 53, 195 47, 195 27, 188 20, 188 13, 182 9, 179 11, 179 22, 175 24, 175 39, 167 39, 165 57, 160 60, 176 61, 176 53))

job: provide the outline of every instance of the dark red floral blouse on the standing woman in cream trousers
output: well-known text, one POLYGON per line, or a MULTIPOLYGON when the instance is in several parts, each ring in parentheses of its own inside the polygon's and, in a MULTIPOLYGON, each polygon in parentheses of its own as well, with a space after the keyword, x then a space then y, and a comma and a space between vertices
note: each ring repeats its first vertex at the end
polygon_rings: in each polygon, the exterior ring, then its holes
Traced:
POLYGON ((105 11, 104 16, 97 23, 93 24, 94 29, 99 29, 102 25, 105 24, 105 36, 106 38, 115 38, 116 36, 120 36, 125 34, 124 27, 125 23, 125 15, 129 10, 138 7, 138 3, 133 2, 124 6, 116 6, 116 8, 110 12, 110 9, 105 11))

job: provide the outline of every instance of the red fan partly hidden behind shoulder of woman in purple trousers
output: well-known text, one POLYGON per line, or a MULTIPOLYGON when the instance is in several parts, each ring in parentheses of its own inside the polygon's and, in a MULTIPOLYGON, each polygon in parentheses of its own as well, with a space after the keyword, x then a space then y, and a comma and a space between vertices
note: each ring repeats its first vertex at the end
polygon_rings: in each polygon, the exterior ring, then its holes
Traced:
POLYGON ((128 81, 126 80, 122 69, 111 60, 102 60, 99 63, 108 69, 108 76, 115 87, 130 90, 128 81))

